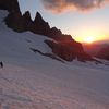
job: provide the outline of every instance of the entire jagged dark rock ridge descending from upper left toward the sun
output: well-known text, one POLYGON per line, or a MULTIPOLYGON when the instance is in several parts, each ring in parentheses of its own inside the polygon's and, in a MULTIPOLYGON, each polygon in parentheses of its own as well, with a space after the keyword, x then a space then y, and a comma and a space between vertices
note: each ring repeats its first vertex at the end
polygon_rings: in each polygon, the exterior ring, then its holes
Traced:
POLYGON ((71 35, 62 34, 57 27, 50 27, 48 22, 45 22, 41 17, 40 13, 36 13, 34 21, 32 21, 28 11, 22 15, 17 0, 0 0, 0 9, 9 11, 9 15, 5 17, 5 24, 10 28, 20 33, 31 31, 35 34, 53 38, 57 43, 50 40, 45 40, 45 43, 58 57, 66 61, 72 61, 75 58, 80 61, 93 60, 90 56, 85 53, 82 44, 76 43, 71 35))

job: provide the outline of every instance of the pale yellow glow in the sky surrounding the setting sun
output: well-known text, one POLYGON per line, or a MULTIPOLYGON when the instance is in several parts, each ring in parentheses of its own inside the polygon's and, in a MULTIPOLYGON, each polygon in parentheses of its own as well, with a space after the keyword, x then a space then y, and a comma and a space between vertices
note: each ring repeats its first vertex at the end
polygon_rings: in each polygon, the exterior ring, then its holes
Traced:
POLYGON ((87 44, 109 40, 108 28, 106 28, 105 24, 101 23, 86 23, 82 28, 78 27, 75 33, 72 32, 72 37, 76 41, 87 44))

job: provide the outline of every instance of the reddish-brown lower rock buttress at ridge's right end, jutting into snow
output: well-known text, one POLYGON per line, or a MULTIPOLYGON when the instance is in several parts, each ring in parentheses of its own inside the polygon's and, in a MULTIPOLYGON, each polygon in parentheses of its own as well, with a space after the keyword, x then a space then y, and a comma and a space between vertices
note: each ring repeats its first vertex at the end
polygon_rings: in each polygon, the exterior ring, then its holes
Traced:
POLYGON ((45 43, 52 49, 52 52, 66 61, 92 61, 93 58, 84 52, 84 49, 80 43, 64 41, 55 43, 51 40, 45 40, 45 43))

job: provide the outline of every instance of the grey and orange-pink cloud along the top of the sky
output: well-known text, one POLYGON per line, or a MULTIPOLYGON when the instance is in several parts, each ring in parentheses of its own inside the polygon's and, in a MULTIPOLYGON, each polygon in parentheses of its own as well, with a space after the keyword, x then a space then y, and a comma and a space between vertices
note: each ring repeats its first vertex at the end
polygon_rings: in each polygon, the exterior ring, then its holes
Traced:
POLYGON ((88 11, 109 4, 109 0, 41 0, 45 9, 56 13, 70 10, 88 11))

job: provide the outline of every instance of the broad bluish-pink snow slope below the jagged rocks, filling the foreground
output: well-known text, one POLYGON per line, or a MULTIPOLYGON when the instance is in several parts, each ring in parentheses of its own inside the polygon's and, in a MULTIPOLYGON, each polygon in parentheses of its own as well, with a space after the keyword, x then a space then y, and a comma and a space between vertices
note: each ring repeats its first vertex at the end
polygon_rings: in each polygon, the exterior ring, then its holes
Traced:
POLYGON ((7 14, 0 11, 0 109, 109 109, 109 66, 33 52, 51 53, 48 38, 13 32, 7 14))

